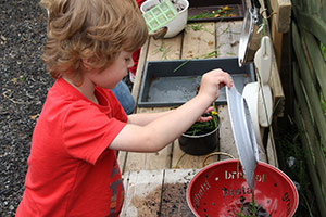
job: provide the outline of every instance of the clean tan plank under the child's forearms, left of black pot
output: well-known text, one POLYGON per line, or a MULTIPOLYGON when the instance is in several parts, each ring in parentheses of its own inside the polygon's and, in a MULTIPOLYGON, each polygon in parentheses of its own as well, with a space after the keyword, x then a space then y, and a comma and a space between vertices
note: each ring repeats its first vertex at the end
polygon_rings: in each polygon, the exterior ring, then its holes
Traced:
MULTIPOLYGON (((137 107, 137 113, 155 113, 171 110, 170 107, 137 107)), ((128 152, 125 161, 124 171, 140 169, 164 169, 171 168, 172 144, 156 153, 136 153, 128 152)))

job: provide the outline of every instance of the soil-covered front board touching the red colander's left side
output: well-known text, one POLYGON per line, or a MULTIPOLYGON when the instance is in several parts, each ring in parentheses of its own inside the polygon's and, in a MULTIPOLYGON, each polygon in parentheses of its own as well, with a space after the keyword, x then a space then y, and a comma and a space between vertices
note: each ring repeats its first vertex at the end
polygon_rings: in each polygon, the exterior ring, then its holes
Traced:
POLYGON ((167 169, 164 174, 160 216, 195 216, 186 196, 187 187, 199 169, 167 169))

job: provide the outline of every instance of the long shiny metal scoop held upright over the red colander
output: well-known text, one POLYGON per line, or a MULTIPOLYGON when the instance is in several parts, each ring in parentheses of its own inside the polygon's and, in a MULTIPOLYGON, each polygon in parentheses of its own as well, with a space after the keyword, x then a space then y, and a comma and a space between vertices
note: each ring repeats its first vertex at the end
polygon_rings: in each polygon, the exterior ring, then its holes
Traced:
POLYGON ((231 128, 244 178, 249 187, 253 190, 254 169, 259 162, 259 151, 248 105, 235 86, 230 89, 226 88, 226 98, 231 128))

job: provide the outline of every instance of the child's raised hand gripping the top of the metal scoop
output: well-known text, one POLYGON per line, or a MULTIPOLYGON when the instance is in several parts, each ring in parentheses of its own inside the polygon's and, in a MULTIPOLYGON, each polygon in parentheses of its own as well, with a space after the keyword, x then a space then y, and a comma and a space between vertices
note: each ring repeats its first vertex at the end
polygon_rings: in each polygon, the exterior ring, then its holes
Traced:
POLYGON ((233 87, 234 81, 228 73, 222 69, 213 69, 205 73, 201 78, 198 95, 208 98, 211 102, 218 98, 220 89, 224 86, 233 87))

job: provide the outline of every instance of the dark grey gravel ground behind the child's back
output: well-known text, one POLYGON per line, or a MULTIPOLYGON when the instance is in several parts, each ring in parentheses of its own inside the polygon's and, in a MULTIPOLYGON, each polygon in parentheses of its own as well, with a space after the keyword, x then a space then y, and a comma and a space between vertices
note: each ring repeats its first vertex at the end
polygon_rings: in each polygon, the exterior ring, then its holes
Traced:
POLYGON ((22 199, 33 129, 54 81, 40 60, 46 24, 39 0, 0 0, 1 217, 14 216, 22 199))

